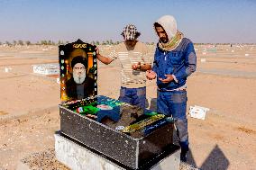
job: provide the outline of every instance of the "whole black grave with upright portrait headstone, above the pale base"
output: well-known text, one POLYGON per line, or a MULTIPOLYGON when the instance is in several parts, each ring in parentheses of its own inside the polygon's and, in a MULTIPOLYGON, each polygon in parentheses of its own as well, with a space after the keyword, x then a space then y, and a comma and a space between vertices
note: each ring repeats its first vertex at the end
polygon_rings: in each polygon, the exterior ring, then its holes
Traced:
POLYGON ((173 118, 97 95, 96 46, 82 40, 59 46, 59 68, 61 137, 131 169, 178 147, 173 118))

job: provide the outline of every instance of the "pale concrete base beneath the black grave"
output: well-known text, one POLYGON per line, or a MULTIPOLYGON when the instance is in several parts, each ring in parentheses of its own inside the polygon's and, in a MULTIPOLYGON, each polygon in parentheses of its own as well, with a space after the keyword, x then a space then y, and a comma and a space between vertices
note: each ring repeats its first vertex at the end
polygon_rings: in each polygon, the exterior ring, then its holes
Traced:
POLYGON ((173 145, 148 164, 131 168, 61 133, 55 134, 55 154, 59 162, 73 170, 178 170, 180 163, 180 148, 173 145))

